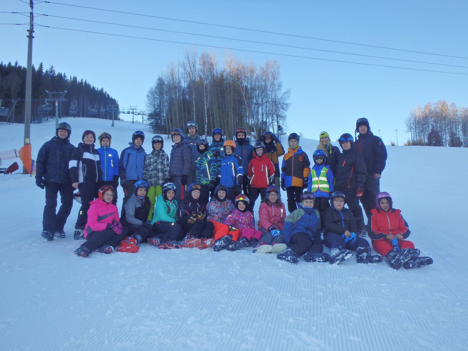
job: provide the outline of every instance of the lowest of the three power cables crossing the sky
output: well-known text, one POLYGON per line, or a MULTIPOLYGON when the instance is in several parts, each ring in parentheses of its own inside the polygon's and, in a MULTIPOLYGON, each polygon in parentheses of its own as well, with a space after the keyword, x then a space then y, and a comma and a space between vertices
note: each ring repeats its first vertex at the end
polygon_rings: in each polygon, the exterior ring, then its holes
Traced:
POLYGON ((144 38, 144 37, 133 37, 133 36, 125 36, 125 35, 122 35, 122 34, 102 33, 102 32, 95 32, 95 31, 91 31, 91 30, 70 29, 70 28, 62 28, 62 27, 45 26, 45 25, 38 24, 38 23, 36 23, 36 24, 37 24, 38 26, 41 26, 41 27, 44 27, 44 28, 64 29, 64 30, 72 30, 72 31, 76 31, 76 32, 92 33, 92 34, 102 34, 102 35, 108 35, 108 36, 114 36, 114 37, 125 37, 125 38, 132 38, 132 39, 153 40, 153 41, 165 42, 165 43, 205 46, 205 47, 216 48, 216 49, 226 49, 226 50, 235 50, 235 51, 256 52, 256 53, 262 53, 262 54, 267 54, 267 55, 287 56, 287 57, 294 57, 294 58, 300 58, 300 59, 313 59, 313 60, 330 61, 330 62, 351 63, 351 64, 355 64, 355 65, 364 65, 364 66, 376 66, 376 67, 398 68, 398 69, 406 69, 406 70, 412 70, 412 71, 423 71, 423 72, 433 72, 433 73, 448 73, 448 74, 468 75, 468 73, 456 73, 456 72, 434 71, 434 70, 421 69, 421 68, 386 66, 386 65, 377 65, 377 64, 371 64, 371 63, 362 63, 362 62, 341 61, 341 60, 332 60, 332 59, 320 59, 320 58, 308 57, 308 56, 281 54, 281 53, 276 53, 276 52, 255 51, 255 50, 247 50, 247 49, 227 48, 227 47, 224 47, 224 46, 214 46, 214 45, 205 45, 205 44, 184 43, 184 42, 176 42, 176 41, 171 41, 171 40, 162 40, 162 39, 144 38))

